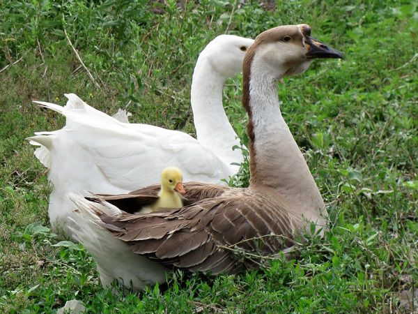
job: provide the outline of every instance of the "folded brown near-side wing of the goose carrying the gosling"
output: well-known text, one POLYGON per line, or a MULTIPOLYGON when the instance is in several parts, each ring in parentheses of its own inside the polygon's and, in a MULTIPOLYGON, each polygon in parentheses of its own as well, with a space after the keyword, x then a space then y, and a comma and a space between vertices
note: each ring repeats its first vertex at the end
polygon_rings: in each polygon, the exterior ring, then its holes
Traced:
MULTIPOLYGON (((103 219, 103 217, 100 217, 103 219)), ((169 213, 106 219, 115 237, 167 267, 234 274, 252 267, 238 251, 266 256, 293 245, 293 223, 268 195, 234 190, 169 213), (235 250, 234 250, 235 249, 235 250)))

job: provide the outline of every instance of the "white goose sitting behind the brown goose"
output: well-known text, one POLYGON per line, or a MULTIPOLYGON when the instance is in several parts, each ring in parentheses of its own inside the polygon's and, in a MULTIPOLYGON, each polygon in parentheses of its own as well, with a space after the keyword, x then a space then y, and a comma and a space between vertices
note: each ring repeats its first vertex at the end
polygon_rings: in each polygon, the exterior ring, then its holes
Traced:
POLYGON ((176 166, 186 181, 220 182, 242 162, 239 140, 224 112, 222 85, 242 70, 242 60, 254 40, 221 35, 199 55, 193 74, 192 109, 197 140, 186 133, 146 124, 125 124, 95 110, 75 94, 65 95, 65 107, 36 102, 66 117, 54 132, 36 133, 35 155, 49 168, 54 188, 49 219, 56 231, 71 237, 68 217, 74 205, 69 192, 127 193, 160 181, 162 169, 176 166))

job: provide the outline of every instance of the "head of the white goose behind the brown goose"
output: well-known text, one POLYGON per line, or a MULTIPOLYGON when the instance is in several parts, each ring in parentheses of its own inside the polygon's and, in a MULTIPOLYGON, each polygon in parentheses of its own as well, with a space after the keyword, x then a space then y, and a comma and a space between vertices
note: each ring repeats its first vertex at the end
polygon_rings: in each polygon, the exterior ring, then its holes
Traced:
POLYGON ((232 77, 242 71, 245 53, 253 43, 254 39, 219 35, 206 46, 200 57, 205 57, 212 70, 222 77, 232 77))

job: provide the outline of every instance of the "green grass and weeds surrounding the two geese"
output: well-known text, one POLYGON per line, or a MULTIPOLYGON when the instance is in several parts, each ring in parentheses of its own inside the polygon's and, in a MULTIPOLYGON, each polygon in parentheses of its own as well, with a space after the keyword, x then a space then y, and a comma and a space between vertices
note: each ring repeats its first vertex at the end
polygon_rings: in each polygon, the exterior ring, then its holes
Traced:
MULTIPOLYGON (((417 287, 417 3, 410 1, 3 1, 0 6, 0 311, 53 313, 84 301, 89 313, 402 313, 417 287), (65 123, 31 100, 79 95, 133 122, 193 134, 189 86, 199 51, 229 24, 254 37, 306 22, 344 52, 281 85, 282 112, 328 204, 330 230, 300 260, 240 276, 171 274, 168 287, 104 290, 95 263, 48 227, 47 172, 25 137, 65 123), (64 35, 100 84, 96 89, 64 35), (39 44, 38 44, 39 43, 39 44), (42 52, 42 54, 41 54, 42 52), (43 59, 45 59, 45 63, 43 59), (45 73, 45 75, 44 75, 45 73), (62 244, 62 243, 61 243, 62 244)), ((244 137, 240 77, 224 103, 244 137)), ((246 165, 235 185, 247 182, 246 165)), ((416 308, 415 308, 416 311, 416 308)))

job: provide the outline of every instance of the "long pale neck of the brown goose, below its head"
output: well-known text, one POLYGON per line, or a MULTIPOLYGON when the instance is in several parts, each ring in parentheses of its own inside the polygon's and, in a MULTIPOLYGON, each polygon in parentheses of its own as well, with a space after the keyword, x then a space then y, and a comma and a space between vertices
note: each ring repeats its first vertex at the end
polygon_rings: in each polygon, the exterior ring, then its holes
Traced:
POLYGON ((246 109, 252 140, 250 188, 278 195, 306 218, 320 220, 318 217, 325 205, 281 116, 276 78, 265 76, 263 68, 253 64, 247 89, 246 109))

